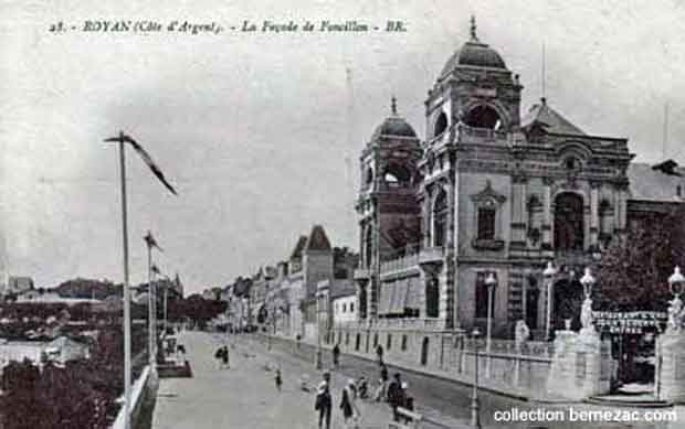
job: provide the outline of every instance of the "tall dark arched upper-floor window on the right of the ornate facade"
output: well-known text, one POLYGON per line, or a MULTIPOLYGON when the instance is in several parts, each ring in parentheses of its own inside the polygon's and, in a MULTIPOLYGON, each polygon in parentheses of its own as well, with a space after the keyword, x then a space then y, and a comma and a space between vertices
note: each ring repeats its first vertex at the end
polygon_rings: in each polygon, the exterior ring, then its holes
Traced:
POLYGON ((555 248, 582 250, 584 243, 582 197, 563 192, 555 200, 555 248))

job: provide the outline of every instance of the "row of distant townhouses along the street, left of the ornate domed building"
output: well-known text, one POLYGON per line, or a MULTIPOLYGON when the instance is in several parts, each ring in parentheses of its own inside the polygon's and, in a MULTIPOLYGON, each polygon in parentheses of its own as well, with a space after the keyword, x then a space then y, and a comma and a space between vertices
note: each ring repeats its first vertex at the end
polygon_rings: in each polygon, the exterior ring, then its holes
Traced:
POLYGON ((334 323, 334 309, 340 318, 356 318, 356 287, 352 280, 358 256, 334 247, 322 225, 301 235, 286 260, 263 266, 249 278, 239 277, 222 290, 229 302, 229 323, 234 329, 256 326, 263 332, 313 341, 318 334, 317 314, 334 323), (325 305, 317 307, 317 291, 326 290, 325 305), (339 301, 336 303, 336 301, 339 301))

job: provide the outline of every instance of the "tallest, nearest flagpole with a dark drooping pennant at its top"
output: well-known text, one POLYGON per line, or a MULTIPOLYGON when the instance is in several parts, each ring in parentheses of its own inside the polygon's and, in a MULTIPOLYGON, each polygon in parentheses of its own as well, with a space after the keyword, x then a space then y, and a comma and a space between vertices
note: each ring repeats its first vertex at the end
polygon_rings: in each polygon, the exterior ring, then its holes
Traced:
POLYGON ((176 190, 167 182, 164 173, 155 164, 152 158, 143 147, 130 136, 119 131, 117 137, 104 140, 107 143, 118 143, 119 146, 119 176, 122 192, 122 244, 124 264, 124 427, 130 429, 130 290, 128 279, 128 214, 126 201, 126 144, 130 144, 134 150, 143 158, 143 161, 152 171, 152 174, 173 194, 176 190))

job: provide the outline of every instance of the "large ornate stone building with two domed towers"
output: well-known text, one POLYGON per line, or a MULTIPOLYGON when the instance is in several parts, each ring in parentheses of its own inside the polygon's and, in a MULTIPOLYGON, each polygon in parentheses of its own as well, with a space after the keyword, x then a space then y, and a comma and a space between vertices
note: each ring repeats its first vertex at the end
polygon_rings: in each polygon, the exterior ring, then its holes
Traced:
POLYGON ((558 315, 582 289, 582 269, 631 222, 683 202, 674 162, 633 163, 625 138, 590 135, 544 98, 521 114, 523 89, 472 19, 471 39, 428 92, 428 136, 392 99, 360 155, 359 311, 338 339, 420 350, 430 363, 435 342, 484 332, 492 274, 494 336, 513 337, 523 319, 542 340, 548 261, 558 315))

